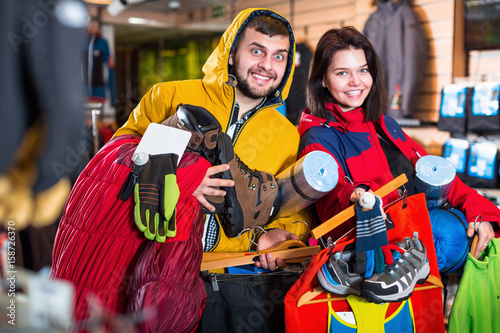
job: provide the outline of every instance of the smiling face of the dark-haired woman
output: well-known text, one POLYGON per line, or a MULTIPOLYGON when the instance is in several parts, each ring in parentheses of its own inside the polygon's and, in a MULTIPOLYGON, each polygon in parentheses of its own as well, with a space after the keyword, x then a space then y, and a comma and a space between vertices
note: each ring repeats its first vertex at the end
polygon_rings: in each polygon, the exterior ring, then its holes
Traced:
POLYGON ((372 84, 365 51, 361 49, 337 51, 323 78, 323 87, 328 88, 343 112, 360 107, 372 84))

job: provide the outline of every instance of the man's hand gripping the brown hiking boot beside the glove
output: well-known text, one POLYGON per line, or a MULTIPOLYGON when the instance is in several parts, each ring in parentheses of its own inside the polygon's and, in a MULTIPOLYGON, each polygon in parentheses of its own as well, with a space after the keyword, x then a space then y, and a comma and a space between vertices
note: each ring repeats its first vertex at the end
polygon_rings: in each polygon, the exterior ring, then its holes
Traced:
POLYGON ((215 207, 210 204, 207 199, 205 199, 205 195, 223 197, 226 195, 226 191, 221 190, 219 187, 234 186, 234 181, 228 179, 210 178, 210 176, 227 170, 229 170, 228 164, 221 164, 208 168, 200 186, 198 186, 198 188, 193 192, 193 195, 198 199, 203 207, 211 212, 215 211, 215 207))

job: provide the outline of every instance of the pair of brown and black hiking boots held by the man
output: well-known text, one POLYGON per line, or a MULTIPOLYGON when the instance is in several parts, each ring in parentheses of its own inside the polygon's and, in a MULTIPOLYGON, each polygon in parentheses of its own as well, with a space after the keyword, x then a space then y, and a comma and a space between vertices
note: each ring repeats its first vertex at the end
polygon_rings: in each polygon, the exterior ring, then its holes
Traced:
POLYGON ((217 119, 205 108, 180 104, 176 113, 162 125, 191 133, 187 151, 197 153, 212 165, 229 164, 228 171, 214 175, 232 179, 234 187, 222 188, 224 197, 206 196, 218 214, 228 237, 237 236, 242 230, 263 226, 279 210, 278 183, 274 175, 250 169, 234 153, 231 138, 222 132, 217 119))

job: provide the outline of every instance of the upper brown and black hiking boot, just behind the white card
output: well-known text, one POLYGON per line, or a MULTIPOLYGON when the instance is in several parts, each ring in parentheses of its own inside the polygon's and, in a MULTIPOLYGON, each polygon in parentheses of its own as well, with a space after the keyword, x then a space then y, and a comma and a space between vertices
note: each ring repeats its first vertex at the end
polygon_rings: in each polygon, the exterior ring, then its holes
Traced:
POLYGON ((191 133, 187 151, 199 154, 214 165, 215 147, 222 127, 217 119, 201 106, 179 104, 173 116, 162 125, 191 133))

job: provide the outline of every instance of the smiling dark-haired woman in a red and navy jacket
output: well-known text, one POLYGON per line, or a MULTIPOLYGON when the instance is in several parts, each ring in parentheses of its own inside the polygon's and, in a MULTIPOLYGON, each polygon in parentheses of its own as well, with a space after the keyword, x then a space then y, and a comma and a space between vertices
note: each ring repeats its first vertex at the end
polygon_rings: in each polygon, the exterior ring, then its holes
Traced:
MULTIPOLYGON (((382 73, 373 45, 355 28, 331 29, 318 42, 307 85, 309 109, 299 126, 299 154, 322 150, 339 165, 337 186, 316 202, 321 221, 350 206, 363 192, 375 191, 402 173, 409 180, 405 185, 408 196, 418 192, 413 182, 415 165, 428 153, 393 118, 383 115, 388 100, 382 73)), ((383 198, 384 206, 398 198, 397 191, 391 193, 383 198)), ((462 211, 468 222, 477 216, 487 221, 500 218, 493 204, 456 177, 448 202, 462 211)), ((354 222, 329 236, 337 239, 354 222)), ((490 223, 476 229, 482 244, 493 237, 490 223)))

